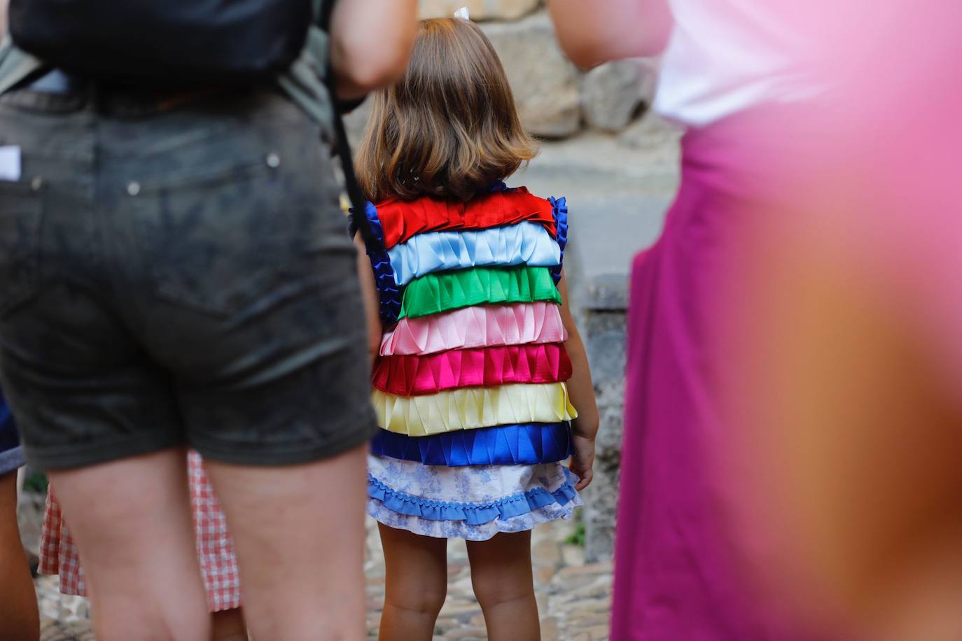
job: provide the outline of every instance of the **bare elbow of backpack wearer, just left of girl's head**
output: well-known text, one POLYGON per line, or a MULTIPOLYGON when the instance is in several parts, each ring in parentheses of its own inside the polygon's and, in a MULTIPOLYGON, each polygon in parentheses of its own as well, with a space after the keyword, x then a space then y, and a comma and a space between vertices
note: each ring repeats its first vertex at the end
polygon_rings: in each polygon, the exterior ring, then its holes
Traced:
POLYGON ((417 0, 338 2, 331 16, 338 96, 360 98, 390 85, 404 72, 417 31, 417 0))

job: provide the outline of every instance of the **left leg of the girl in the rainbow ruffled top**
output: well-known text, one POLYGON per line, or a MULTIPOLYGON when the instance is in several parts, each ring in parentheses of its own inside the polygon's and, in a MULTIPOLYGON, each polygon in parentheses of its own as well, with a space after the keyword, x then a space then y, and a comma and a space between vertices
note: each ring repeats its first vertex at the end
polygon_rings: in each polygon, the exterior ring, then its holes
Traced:
POLYGON ((447 595, 447 539, 378 525, 384 547, 380 641, 430 641, 447 595))

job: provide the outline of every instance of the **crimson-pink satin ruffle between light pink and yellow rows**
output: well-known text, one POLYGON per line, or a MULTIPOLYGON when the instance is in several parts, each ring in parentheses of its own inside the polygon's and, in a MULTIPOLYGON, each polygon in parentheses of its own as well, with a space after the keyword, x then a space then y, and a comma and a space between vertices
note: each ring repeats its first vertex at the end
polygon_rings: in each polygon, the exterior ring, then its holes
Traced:
POLYGON ((561 382, 570 378, 571 360, 560 343, 380 357, 371 377, 376 389, 399 396, 436 394, 458 387, 561 382))

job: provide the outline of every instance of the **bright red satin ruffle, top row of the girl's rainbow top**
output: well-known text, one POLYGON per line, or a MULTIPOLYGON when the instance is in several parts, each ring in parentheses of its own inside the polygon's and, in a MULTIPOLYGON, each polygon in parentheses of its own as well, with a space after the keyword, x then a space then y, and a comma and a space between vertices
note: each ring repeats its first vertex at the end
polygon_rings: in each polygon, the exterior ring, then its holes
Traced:
POLYGON ((552 237, 557 234, 551 203, 532 195, 526 187, 482 194, 467 203, 427 197, 387 200, 377 204, 377 216, 387 249, 415 234, 484 230, 523 221, 543 225, 552 237))

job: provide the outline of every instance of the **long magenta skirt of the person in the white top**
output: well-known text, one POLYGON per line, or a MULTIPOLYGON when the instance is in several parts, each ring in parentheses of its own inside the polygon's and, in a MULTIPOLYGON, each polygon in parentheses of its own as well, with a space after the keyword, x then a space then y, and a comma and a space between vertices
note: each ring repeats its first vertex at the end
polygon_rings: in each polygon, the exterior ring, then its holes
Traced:
MULTIPOLYGON (((748 117, 753 134, 764 123, 748 117)), ((686 134, 682 182, 663 234, 632 267, 615 641, 817 638, 782 616, 779 604, 763 603, 750 552, 759 534, 735 527, 744 498, 722 472, 722 452, 743 436, 726 420, 727 385, 747 357, 731 355, 724 338, 733 301, 744 295, 733 274, 753 237, 751 197, 767 202, 781 193, 779 175, 760 180, 754 172, 777 158, 767 141, 785 139, 756 142, 743 127, 732 120, 686 134)))

